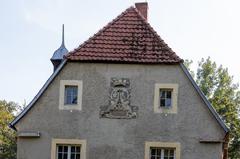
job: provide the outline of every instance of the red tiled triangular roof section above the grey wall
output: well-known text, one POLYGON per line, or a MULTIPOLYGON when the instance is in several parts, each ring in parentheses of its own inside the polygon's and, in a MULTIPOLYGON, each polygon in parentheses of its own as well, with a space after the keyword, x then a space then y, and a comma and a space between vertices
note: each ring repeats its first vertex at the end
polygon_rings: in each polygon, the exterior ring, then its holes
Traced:
POLYGON ((141 13, 128 8, 66 57, 72 61, 180 63, 141 13))

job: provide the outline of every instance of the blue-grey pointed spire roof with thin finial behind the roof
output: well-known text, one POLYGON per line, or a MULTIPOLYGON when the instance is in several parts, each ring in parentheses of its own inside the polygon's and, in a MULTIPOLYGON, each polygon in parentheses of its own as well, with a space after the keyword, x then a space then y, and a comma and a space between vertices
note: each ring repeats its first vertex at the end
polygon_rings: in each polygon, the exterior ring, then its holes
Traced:
POLYGON ((68 53, 68 50, 66 49, 65 42, 64 42, 64 24, 63 24, 62 25, 62 44, 56 51, 54 51, 51 61, 62 60, 67 53, 68 53))

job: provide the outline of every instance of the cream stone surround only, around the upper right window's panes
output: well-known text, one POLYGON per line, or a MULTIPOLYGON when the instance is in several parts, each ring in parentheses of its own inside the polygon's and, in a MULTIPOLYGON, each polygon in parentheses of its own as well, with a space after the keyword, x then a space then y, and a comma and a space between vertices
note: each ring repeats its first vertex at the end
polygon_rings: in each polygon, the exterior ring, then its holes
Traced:
POLYGON ((154 89, 154 113, 177 114, 178 84, 156 83, 154 89), (170 108, 160 107, 160 89, 172 89, 172 106, 170 108))

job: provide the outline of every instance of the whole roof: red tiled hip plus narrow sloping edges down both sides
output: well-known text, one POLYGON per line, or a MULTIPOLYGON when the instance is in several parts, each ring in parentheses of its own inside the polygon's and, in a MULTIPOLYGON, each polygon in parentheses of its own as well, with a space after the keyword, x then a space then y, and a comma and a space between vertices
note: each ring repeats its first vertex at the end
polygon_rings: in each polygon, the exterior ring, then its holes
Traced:
POLYGON ((229 131, 225 123, 221 120, 215 109, 211 106, 200 88, 192 79, 188 70, 182 63, 183 60, 164 43, 147 23, 146 19, 144 19, 134 7, 128 8, 96 35, 74 51, 68 53, 34 99, 10 123, 10 127, 15 129, 15 125, 32 107, 34 107, 38 99, 48 89, 49 85, 55 77, 58 76, 68 61, 180 65, 216 121, 225 132, 229 131))

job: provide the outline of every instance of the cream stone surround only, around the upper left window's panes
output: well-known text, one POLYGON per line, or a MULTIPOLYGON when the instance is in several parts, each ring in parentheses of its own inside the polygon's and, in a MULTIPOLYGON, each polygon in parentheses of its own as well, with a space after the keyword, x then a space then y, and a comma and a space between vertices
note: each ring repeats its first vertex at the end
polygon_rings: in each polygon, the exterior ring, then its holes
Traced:
POLYGON ((59 89, 59 109, 60 110, 82 110, 82 88, 83 83, 81 80, 60 80, 59 89), (78 99, 77 104, 66 105, 64 104, 65 99, 65 86, 77 86, 78 87, 78 99))

